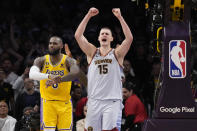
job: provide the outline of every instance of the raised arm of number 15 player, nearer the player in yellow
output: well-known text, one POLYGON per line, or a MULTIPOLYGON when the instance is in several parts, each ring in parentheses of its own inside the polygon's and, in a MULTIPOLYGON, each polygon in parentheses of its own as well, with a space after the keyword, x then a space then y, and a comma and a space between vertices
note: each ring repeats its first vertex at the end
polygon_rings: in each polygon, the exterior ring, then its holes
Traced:
POLYGON ((98 13, 98 9, 90 8, 75 32, 75 39, 77 40, 82 51, 87 55, 88 59, 94 55, 96 47, 93 44, 89 43, 83 34, 90 18, 97 15, 98 13))

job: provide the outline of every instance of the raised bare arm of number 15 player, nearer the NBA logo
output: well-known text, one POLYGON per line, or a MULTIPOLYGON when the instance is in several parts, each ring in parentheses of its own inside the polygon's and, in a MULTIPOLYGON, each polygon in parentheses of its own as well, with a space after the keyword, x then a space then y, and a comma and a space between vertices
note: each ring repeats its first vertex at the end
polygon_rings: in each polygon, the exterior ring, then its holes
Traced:
POLYGON ((127 54, 127 52, 129 51, 129 48, 130 48, 131 43, 133 41, 133 35, 132 35, 127 23, 125 22, 124 18, 122 17, 120 9, 114 8, 114 9, 112 9, 112 12, 120 21, 120 24, 122 26, 122 30, 123 30, 123 33, 125 36, 125 39, 123 40, 122 44, 115 49, 115 54, 117 56, 117 59, 118 59, 119 63, 122 64, 124 57, 127 54))

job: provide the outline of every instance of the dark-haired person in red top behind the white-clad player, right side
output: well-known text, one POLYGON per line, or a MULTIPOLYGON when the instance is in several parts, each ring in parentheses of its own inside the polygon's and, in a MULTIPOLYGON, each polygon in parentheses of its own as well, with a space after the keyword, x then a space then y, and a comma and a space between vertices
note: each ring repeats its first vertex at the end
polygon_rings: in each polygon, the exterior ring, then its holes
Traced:
POLYGON ((142 123, 147 119, 144 104, 133 92, 134 85, 131 82, 124 84, 122 88, 123 99, 125 99, 126 120, 123 125, 124 131, 141 131, 142 123))

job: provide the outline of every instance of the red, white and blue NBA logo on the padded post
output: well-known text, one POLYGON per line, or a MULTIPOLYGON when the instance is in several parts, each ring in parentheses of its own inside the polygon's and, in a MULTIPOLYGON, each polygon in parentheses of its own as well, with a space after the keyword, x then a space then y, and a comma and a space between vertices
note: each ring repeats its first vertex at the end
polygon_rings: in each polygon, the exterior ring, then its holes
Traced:
POLYGON ((171 78, 186 76, 186 42, 172 40, 169 43, 169 75, 171 78))

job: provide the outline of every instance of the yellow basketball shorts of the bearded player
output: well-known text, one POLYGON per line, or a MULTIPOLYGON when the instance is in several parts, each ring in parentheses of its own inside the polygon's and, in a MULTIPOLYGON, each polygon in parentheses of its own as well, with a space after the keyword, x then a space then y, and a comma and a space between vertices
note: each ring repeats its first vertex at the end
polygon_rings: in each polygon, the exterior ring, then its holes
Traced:
POLYGON ((48 101, 41 99, 40 111, 41 130, 55 129, 72 130, 72 103, 63 101, 48 101))

